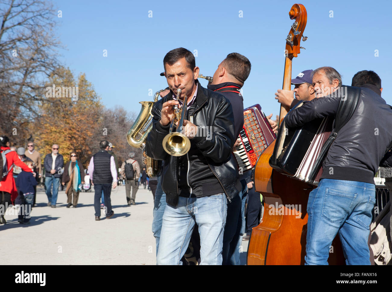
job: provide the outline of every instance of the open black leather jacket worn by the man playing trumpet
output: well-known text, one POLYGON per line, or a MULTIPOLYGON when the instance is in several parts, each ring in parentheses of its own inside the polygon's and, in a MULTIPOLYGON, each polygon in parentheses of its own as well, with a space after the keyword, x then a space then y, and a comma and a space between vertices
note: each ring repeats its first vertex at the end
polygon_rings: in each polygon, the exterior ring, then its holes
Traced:
MULTIPOLYGON (((218 179, 221 187, 229 200, 238 195, 240 181, 238 180, 238 166, 232 155, 232 147, 236 141, 234 133, 234 116, 230 102, 221 94, 201 87, 198 83, 196 105, 193 113, 193 123, 199 127, 209 129, 212 132, 205 136, 196 136, 191 141, 192 161, 189 164, 187 178, 190 183, 201 183, 203 177, 211 172, 218 179), (207 139, 207 137, 209 137, 207 139), (192 150, 193 149, 193 150, 192 150), (209 169, 200 173, 200 166, 208 164, 209 169), (191 180, 190 179, 190 180, 191 180)), ((179 158, 167 154, 163 150, 163 138, 169 132, 169 125, 162 127, 160 124, 162 104, 172 99, 172 92, 154 104, 152 115, 152 130, 147 136, 146 153, 156 160, 164 160, 162 172, 162 189, 166 194, 166 202, 172 207, 178 203, 178 173, 179 158)), ((181 156, 183 157, 183 156, 181 156)), ((204 167, 205 169, 205 167, 204 167)))

